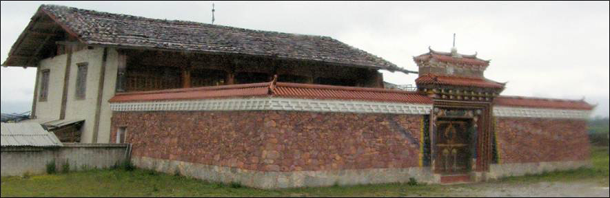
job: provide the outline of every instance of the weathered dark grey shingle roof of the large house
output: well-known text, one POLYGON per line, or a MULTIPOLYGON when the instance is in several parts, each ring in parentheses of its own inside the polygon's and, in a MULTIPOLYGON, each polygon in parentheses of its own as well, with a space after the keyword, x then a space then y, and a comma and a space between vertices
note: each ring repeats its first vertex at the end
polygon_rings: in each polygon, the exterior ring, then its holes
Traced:
POLYGON ((41 5, 39 12, 48 14, 68 33, 88 45, 247 54, 403 71, 383 58, 329 36, 148 19, 61 5, 41 5))

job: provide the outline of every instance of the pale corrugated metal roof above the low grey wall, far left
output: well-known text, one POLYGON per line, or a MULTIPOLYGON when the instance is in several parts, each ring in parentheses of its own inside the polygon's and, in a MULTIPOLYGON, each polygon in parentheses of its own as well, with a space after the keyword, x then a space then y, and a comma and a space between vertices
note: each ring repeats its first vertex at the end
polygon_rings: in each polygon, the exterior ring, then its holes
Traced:
POLYGON ((35 122, 2 123, 1 146, 63 146, 55 134, 35 122))

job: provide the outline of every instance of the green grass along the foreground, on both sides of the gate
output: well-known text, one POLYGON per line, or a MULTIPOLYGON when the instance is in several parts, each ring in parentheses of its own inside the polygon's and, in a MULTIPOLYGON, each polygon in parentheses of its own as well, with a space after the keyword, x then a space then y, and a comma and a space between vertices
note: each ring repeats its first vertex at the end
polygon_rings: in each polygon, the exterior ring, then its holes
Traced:
MULTIPOLYGON (((592 150, 593 168, 510 177, 496 182, 578 181, 608 185, 607 147, 592 150)), ((469 184, 460 186, 467 187, 469 184)), ((446 186, 379 184, 258 190, 156 173, 150 170, 89 170, 77 173, 1 178, 1 197, 403 197, 443 196, 446 186)))

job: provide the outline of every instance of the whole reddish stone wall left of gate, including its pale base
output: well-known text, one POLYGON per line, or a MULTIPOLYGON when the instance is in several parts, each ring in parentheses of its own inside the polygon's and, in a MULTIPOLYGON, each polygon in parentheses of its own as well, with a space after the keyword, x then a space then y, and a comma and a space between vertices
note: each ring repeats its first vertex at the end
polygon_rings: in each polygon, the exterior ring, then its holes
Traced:
POLYGON ((382 113, 114 112, 111 137, 126 127, 141 168, 258 188, 432 183, 419 167, 422 124, 423 115, 382 113))

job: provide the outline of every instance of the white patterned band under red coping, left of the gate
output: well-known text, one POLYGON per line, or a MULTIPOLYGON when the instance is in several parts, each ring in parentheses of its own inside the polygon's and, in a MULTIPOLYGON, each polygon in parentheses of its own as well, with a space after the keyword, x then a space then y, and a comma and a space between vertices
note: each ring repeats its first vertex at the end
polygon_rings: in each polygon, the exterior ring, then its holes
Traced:
POLYGON ((315 100, 297 98, 233 98, 111 103, 112 111, 320 111, 427 115, 432 104, 315 100))

